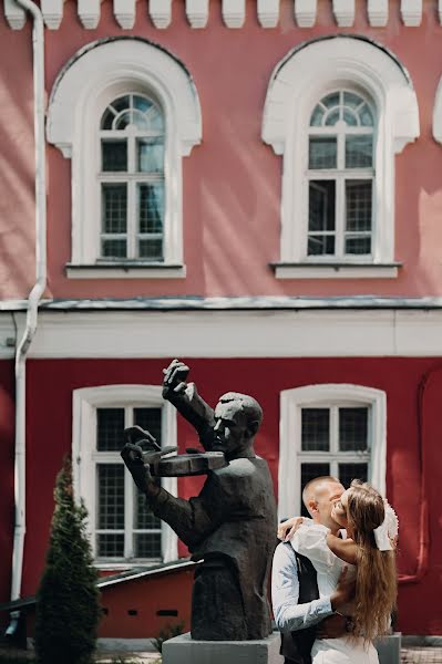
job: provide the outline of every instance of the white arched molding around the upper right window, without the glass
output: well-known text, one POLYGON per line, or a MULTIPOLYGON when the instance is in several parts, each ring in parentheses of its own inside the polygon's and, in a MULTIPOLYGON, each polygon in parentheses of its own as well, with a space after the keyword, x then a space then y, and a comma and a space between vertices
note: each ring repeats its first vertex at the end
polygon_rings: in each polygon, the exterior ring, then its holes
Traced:
MULTIPOLYGON (((263 141, 284 156, 279 278, 289 278, 284 274, 287 264, 291 270, 294 264, 318 263, 317 257, 307 256, 307 128, 319 100, 341 89, 369 97, 377 117, 373 245, 370 260, 358 264, 394 267, 394 155, 419 135, 417 95, 408 73, 386 49, 364 38, 337 35, 291 51, 275 68, 267 90, 263 141)), ((342 260, 327 262, 329 268, 342 267, 342 260)), ((354 257, 343 262, 354 263, 354 257)), ((316 276, 330 273, 323 274, 319 266, 316 276)))

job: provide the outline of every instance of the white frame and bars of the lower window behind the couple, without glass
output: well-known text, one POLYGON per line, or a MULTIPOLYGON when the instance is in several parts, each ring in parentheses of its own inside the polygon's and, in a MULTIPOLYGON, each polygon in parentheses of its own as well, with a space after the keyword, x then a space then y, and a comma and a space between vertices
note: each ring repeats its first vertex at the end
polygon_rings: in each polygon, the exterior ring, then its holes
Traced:
POLYGON ((301 513, 301 463, 329 464, 329 471, 319 468, 318 475, 338 475, 339 463, 368 464, 368 481, 386 495, 387 469, 387 395, 381 390, 350 384, 307 385, 285 390, 280 394, 280 449, 278 475, 279 518, 301 513), (367 450, 339 452, 339 408, 368 411, 367 450), (330 452, 301 449, 302 408, 330 409, 330 452), (335 433, 333 433, 335 430, 335 433), (335 440, 335 443, 333 443, 335 440))

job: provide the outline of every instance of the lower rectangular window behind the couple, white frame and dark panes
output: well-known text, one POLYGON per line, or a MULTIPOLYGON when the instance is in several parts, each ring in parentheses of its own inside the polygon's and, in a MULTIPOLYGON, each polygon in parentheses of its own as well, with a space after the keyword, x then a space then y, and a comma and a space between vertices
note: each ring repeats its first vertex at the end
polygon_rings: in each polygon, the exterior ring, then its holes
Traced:
POLYGON ((302 488, 331 475, 348 487, 386 492, 387 395, 350 384, 317 384, 280 395, 279 516, 300 515, 302 488))

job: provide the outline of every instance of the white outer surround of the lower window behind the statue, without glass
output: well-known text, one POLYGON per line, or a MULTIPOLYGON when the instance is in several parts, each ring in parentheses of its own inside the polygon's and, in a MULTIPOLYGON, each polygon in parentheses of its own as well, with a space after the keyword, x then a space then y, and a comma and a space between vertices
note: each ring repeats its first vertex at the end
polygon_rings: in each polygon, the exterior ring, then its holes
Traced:
MULTIPOLYGON (((91 538, 92 551, 95 558, 95 530, 96 530, 96 463, 115 463, 115 453, 96 452, 96 409, 106 407, 144 407, 162 408, 162 444, 176 445, 176 409, 162 397, 161 385, 101 385, 97 387, 82 387, 73 391, 73 418, 72 418, 72 466, 73 485, 76 499, 82 498, 88 508, 88 531, 91 538)), ((125 470, 125 486, 133 480, 125 470)), ((131 485, 132 486, 132 485, 131 485)), ((162 486, 176 496, 176 477, 165 477, 162 486)), ((126 494, 127 495, 127 494, 126 494)), ((126 505, 126 521, 131 518, 126 505)), ((127 521, 129 523, 129 521, 127 521)), ((162 560, 171 562, 178 557, 177 536, 162 521, 162 560)), ((148 564, 148 560, 127 559, 112 561, 112 559, 97 560, 100 569, 127 569, 148 564)), ((154 562, 152 562, 154 564, 154 562)))

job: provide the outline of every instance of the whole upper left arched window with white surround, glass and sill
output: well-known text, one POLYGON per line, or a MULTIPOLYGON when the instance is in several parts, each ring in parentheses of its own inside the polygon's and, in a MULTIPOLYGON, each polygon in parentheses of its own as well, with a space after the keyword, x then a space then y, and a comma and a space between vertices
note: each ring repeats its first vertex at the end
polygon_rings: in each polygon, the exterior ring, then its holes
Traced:
POLYGON ((182 159, 199 100, 175 56, 140 38, 79 51, 59 74, 48 141, 72 159, 70 278, 182 278, 182 159))

